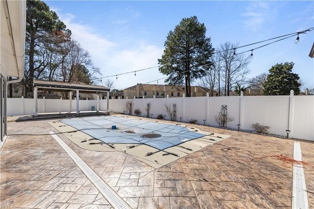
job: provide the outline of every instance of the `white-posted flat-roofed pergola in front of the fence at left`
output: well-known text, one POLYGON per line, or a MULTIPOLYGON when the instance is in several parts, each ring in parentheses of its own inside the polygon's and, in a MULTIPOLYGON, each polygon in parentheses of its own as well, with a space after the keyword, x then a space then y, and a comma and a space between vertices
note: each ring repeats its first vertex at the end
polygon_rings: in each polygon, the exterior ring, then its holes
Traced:
POLYGON ((55 91, 69 91, 69 100, 70 100, 70 112, 72 111, 72 92, 76 91, 76 101, 77 101, 77 115, 79 114, 79 92, 81 93, 94 93, 97 94, 97 105, 96 111, 99 111, 99 93, 107 93, 107 111, 109 108, 109 89, 105 86, 99 85, 86 85, 86 84, 77 84, 77 83, 64 83, 58 81, 46 81, 46 80, 33 80, 34 87, 34 115, 38 115, 38 106, 37 106, 37 91, 38 89, 53 89, 55 91))

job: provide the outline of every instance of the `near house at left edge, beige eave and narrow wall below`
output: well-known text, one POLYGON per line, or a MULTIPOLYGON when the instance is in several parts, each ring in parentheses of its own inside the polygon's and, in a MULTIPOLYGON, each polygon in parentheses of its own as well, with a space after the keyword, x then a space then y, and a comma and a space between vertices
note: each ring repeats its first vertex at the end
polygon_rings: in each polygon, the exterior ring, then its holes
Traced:
POLYGON ((7 135, 7 85, 24 76, 26 0, 0 0, 0 147, 7 135), (7 80, 13 77, 12 80, 7 80))

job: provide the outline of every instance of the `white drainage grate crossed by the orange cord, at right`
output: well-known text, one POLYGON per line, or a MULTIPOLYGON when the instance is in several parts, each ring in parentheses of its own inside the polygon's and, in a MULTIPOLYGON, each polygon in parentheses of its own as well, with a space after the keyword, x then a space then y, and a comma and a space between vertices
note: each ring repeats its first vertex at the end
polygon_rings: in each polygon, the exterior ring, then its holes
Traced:
MULTIPOLYGON (((293 158, 302 161, 299 142, 294 142, 293 144, 293 158)), ((293 165, 292 198, 293 209, 309 209, 308 193, 302 165, 293 165)))

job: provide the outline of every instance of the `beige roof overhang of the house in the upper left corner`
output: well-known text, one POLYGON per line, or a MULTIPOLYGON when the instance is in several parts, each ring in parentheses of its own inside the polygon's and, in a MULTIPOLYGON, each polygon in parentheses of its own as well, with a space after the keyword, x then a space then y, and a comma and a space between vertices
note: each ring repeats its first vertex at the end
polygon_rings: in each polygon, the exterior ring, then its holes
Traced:
POLYGON ((23 78, 26 0, 1 0, 0 7, 0 70, 6 76, 23 78))

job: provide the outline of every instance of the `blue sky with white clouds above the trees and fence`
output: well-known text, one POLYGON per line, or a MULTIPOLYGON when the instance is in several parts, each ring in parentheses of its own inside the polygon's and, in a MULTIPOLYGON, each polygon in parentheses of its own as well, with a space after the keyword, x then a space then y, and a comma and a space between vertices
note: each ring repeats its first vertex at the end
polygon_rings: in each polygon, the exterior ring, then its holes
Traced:
MULTIPOLYGON (((170 30, 183 18, 197 16, 207 28, 214 48, 227 41, 239 46, 314 27, 314 2, 309 1, 106 1, 45 0, 72 31, 74 39, 92 56, 102 76, 156 67, 170 30)), ((309 52, 314 30, 253 52, 249 78, 277 63, 294 62, 293 73, 305 88, 314 88, 314 58, 309 52)), ((251 50, 239 49, 237 52, 251 50)), ((247 52, 248 55, 251 52, 247 52)), ((109 79, 117 89, 147 83, 165 76, 152 68, 109 79)), ((108 78, 103 78, 104 81, 108 78)), ((157 83, 157 81, 151 82, 157 83)), ((104 85, 104 83, 98 83, 104 85)), ((197 85, 197 82, 193 83, 197 85)))

